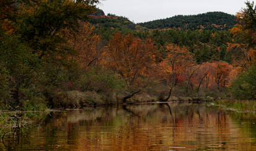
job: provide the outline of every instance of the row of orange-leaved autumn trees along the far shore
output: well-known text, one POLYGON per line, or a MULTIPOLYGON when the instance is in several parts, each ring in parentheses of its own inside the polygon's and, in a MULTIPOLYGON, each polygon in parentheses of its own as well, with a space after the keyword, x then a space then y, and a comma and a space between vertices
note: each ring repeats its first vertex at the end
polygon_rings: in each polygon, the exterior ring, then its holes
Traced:
MULTIPOLYGON (((149 88, 149 81, 155 83, 155 91, 164 92, 167 101, 179 89, 186 95, 199 94, 200 89, 221 91, 230 84, 233 67, 225 62, 195 63, 186 47, 168 44, 163 57, 153 41, 142 40, 132 35, 117 32, 105 47, 99 36, 93 34, 93 27, 82 23, 79 33, 69 40, 77 51, 75 60, 82 68, 100 65, 125 81, 124 101, 149 88)), ((88 70, 87 70, 88 71, 88 70)), ((184 95, 183 94, 183 95, 184 95)))

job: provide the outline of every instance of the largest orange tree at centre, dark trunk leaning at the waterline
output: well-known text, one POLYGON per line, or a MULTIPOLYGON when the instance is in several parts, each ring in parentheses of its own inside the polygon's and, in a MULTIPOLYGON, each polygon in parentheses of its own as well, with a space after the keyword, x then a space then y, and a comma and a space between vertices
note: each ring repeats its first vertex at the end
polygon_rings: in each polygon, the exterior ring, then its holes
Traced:
POLYGON ((119 32, 106 46, 103 64, 118 73, 126 82, 129 94, 123 98, 124 102, 147 85, 143 81, 149 78, 152 63, 155 62, 154 51, 155 46, 151 39, 143 42, 130 34, 123 36, 119 32))

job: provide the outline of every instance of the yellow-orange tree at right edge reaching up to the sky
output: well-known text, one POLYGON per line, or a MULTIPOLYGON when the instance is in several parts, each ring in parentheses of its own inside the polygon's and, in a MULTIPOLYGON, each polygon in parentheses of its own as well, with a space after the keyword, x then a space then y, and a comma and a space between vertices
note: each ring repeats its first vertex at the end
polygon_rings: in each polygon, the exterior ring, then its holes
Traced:
POLYGON ((233 52, 234 66, 240 72, 246 71, 256 62, 256 7, 254 2, 245 4, 247 8, 236 15, 239 24, 230 30, 234 36, 233 41, 237 43, 228 44, 228 51, 233 52))

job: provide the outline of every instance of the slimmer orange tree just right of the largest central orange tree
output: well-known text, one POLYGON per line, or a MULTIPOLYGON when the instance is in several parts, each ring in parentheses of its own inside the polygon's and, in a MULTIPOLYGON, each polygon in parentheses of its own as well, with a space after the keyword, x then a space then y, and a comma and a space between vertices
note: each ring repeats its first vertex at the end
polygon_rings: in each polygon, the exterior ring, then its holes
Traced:
POLYGON ((171 97, 177 84, 184 80, 182 73, 194 63, 193 57, 186 47, 168 44, 166 50, 168 51, 168 56, 160 62, 159 76, 163 83, 168 86, 169 94, 166 99, 160 98, 162 101, 167 101, 171 97))

